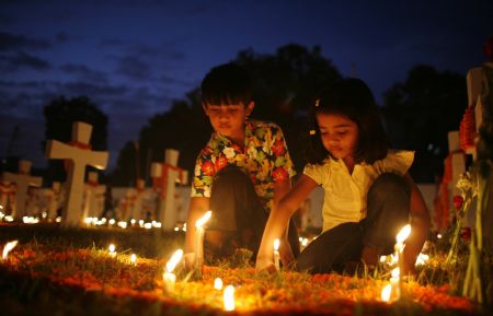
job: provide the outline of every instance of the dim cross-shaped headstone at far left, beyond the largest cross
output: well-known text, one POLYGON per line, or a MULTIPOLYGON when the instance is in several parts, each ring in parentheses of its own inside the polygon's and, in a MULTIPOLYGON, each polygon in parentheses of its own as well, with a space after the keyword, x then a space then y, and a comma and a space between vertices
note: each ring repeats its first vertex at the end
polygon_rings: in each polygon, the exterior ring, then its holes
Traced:
POLYGON ((25 215, 25 202, 27 197, 27 189, 30 186, 41 187, 43 179, 41 177, 33 177, 30 175, 31 162, 21 160, 19 162, 19 173, 4 173, 3 179, 7 182, 15 183, 15 208, 12 209, 12 216, 15 220, 21 220, 25 215))

